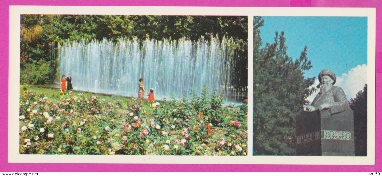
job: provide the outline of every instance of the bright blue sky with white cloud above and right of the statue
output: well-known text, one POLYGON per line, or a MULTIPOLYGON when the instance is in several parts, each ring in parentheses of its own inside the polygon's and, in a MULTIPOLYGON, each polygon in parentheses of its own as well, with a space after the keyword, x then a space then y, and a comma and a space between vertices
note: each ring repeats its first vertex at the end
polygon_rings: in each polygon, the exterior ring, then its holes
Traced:
POLYGON ((346 92, 344 89, 344 91, 348 99, 355 98, 354 92, 356 94, 366 83, 367 17, 262 16, 262 18, 264 26, 260 28, 260 36, 263 45, 266 42, 274 42, 275 31, 279 34, 284 31, 288 56, 297 59, 304 46, 308 46, 307 56, 312 61, 313 68, 305 72, 306 77, 317 78, 321 70, 332 70, 338 77, 336 85, 351 87, 352 90, 346 92))

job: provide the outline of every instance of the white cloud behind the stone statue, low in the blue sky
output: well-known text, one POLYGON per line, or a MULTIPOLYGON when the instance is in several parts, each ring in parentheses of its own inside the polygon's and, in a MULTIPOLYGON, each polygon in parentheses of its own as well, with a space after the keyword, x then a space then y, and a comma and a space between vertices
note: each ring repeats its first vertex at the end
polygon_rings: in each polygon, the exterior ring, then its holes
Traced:
MULTIPOLYGON (((351 68, 348 73, 342 73, 341 77, 337 76, 335 86, 340 86, 345 92, 346 98, 356 98, 358 91, 363 89, 363 86, 367 83, 367 65, 358 65, 355 68, 351 68)), ((319 84, 318 78, 314 82, 314 86, 319 84)), ((306 98, 309 101, 313 101, 318 91, 306 98)))

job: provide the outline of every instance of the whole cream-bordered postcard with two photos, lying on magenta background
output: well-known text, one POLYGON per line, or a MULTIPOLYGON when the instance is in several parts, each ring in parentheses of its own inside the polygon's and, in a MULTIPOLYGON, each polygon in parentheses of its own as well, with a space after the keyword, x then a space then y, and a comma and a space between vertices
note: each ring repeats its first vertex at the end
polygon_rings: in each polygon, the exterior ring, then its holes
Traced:
POLYGON ((9 162, 372 165, 375 14, 10 6, 9 162))

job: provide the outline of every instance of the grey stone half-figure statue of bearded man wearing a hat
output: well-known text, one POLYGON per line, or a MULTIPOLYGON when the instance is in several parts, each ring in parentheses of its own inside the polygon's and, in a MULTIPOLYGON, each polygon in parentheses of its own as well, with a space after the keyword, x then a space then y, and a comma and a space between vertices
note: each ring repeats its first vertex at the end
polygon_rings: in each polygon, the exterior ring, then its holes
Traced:
POLYGON ((348 100, 342 88, 333 86, 336 81, 335 74, 330 70, 322 70, 318 75, 321 87, 310 106, 305 106, 304 111, 328 109, 329 114, 337 114, 349 108, 348 100))

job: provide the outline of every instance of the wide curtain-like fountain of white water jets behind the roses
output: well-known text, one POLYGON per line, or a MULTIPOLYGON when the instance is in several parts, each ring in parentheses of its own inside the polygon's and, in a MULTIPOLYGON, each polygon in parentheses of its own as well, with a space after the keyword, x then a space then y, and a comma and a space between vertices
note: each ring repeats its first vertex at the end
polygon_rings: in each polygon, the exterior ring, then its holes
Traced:
POLYGON ((236 57, 229 47, 233 43, 226 37, 197 42, 184 38, 66 41, 58 46, 56 80, 71 73, 74 90, 138 96, 138 80, 144 78, 146 92, 154 88, 157 99, 190 96, 190 89, 200 95, 207 85, 223 92, 225 101, 238 102, 238 96, 228 91, 230 63, 236 57))

